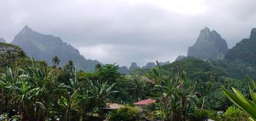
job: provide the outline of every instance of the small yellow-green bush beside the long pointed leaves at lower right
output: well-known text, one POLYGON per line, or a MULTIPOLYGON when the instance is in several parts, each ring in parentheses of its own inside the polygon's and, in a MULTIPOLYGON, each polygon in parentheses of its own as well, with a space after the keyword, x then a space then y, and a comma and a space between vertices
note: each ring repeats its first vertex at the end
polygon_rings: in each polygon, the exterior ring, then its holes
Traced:
POLYGON ((232 121, 232 120, 248 120, 248 115, 243 111, 237 108, 236 106, 230 106, 228 107, 227 111, 223 115, 226 121, 232 121))

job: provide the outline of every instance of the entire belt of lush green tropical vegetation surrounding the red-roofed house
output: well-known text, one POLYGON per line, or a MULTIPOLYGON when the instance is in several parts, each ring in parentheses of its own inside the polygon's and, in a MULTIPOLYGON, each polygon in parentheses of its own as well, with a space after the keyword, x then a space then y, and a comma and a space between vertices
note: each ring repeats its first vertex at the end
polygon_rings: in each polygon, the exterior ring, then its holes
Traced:
POLYGON ((223 93, 221 86, 227 89, 226 94, 235 87, 243 93, 242 99, 255 97, 247 82, 230 76, 227 70, 231 66, 223 68, 228 64, 223 61, 187 57, 153 69, 135 70, 130 75, 118 73, 116 64, 97 64, 95 71, 88 73, 76 71, 72 60, 61 67, 58 56, 54 56, 52 66, 47 66, 45 62, 29 59, 20 48, 10 48, 0 54, 4 62, 0 67, 0 120, 253 118, 246 109, 240 110, 239 104, 239 108, 233 106, 234 101, 229 101, 223 93), (156 103, 142 111, 133 105, 148 98, 156 99, 156 103), (102 110, 106 103, 124 106, 106 113, 102 110))

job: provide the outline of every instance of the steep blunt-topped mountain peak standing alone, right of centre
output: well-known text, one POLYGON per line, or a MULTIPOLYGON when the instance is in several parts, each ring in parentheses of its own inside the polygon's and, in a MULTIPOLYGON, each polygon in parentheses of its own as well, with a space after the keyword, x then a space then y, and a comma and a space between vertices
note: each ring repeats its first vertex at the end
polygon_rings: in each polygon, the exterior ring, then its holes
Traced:
POLYGON ((227 42, 216 31, 205 27, 200 31, 196 43, 188 48, 188 57, 199 59, 223 59, 228 51, 227 42))

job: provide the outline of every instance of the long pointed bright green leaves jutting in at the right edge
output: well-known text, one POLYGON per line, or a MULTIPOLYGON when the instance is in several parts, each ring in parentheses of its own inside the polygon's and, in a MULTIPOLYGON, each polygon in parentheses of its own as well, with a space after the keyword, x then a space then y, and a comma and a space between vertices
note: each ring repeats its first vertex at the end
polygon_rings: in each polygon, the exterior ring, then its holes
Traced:
MULTIPOLYGON (((256 90, 256 85, 254 80, 252 80, 252 78, 250 78, 248 75, 246 76, 248 80, 252 82, 253 88, 256 90)), ((238 106, 239 108, 244 110, 246 113, 248 113, 248 115, 250 115, 250 120, 256 120, 256 94, 251 89, 250 85, 248 86, 250 89, 250 95, 252 97, 252 101, 249 99, 246 99, 246 97, 244 97, 243 94, 239 90, 235 89, 234 87, 232 87, 234 94, 232 92, 229 92, 224 87, 221 87, 221 88, 223 89, 223 92, 225 92, 225 95, 228 97, 228 99, 232 101, 232 103, 236 104, 236 106, 238 106)))

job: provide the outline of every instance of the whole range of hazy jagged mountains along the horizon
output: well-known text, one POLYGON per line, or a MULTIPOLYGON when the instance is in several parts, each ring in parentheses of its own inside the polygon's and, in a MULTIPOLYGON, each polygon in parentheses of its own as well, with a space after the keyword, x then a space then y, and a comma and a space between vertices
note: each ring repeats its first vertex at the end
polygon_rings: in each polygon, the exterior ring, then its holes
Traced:
MULTIPOLYGON (((0 43, 6 43, 6 41, 0 38, 0 43)), ((55 55, 60 59, 60 66, 65 65, 68 60, 72 60, 77 70, 94 71, 95 65, 101 64, 97 60, 85 59, 83 55, 79 53, 79 50, 63 42, 60 37, 41 34, 33 31, 33 29, 29 28, 27 25, 15 36, 12 44, 20 46, 28 56, 34 57, 36 60, 45 60, 49 65, 51 65, 52 57, 55 55)), ((246 67, 249 65, 248 67, 254 68, 256 66, 255 46, 255 28, 252 29, 250 38, 243 39, 237 43, 236 46, 228 50, 225 39, 221 38, 218 32, 210 31, 208 27, 205 27, 200 31, 195 44, 189 46, 187 57, 195 57, 202 60, 230 61, 228 63, 234 64, 232 67, 236 67, 237 65, 234 62, 242 61, 242 63, 246 62, 246 67)), ((186 59, 186 56, 180 55, 175 61, 182 59, 186 59)), ((222 62, 222 64, 224 63, 225 62, 222 62)), ((159 66, 166 64, 170 64, 170 62, 159 62, 159 66)), ((225 68, 232 68, 230 64, 229 66, 226 65, 225 68)), ((122 66, 118 71, 123 74, 128 74, 136 69, 151 69, 155 66, 156 64, 154 62, 148 62, 146 66, 140 68, 136 62, 132 62, 129 68, 122 66)))

